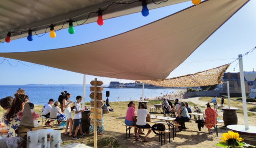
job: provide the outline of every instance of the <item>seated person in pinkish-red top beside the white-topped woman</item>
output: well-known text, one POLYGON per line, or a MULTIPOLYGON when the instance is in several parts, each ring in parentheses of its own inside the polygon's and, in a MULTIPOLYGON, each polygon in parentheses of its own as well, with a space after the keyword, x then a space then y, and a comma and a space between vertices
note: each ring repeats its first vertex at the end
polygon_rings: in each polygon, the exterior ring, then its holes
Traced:
MULTIPOLYGON (((128 110, 126 112, 126 117, 125 117, 125 124, 129 126, 136 125, 135 121, 135 103, 133 101, 130 101, 128 106, 128 110)), ((134 129, 135 135, 137 135, 137 130, 138 128, 134 129)))

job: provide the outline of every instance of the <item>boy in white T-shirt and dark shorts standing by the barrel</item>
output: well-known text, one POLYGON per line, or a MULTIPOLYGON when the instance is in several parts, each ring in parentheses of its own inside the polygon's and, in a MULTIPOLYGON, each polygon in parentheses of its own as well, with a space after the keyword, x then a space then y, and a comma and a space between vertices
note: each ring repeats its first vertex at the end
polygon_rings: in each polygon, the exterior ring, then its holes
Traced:
POLYGON ((74 126, 76 126, 76 129, 75 129, 75 135, 73 136, 73 139, 80 139, 80 137, 77 137, 77 132, 78 132, 78 129, 80 130, 80 133, 82 133, 80 136, 84 136, 85 133, 82 132, 82 126, 81 125, 81 118, 82 118, 82 113, 81 112, 84 112, 85 110, 81 110, 81 105, 80 105, 80 102, 82 100, 82 96, 76 96, 76 100, 77 102, 75 103, 75 113, 74 113, 74 126))

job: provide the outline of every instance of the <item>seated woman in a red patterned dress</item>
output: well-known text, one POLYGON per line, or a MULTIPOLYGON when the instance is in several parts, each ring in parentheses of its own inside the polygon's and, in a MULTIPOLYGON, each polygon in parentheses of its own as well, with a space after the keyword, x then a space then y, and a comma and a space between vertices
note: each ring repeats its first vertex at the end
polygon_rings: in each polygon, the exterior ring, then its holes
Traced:
POLYGON ((206 127, 208 128, 208 132, 209 133, 213 133, 213 131, 210 131, 210 129, 213 127, 213 125, 207 125, 207 124, 216 124, 217 121, 216 121, 216 117, 218 117, 218 113, 213 110, 211 108, 211 105, 210 103, 208 102, 207 105, 206 105, 206 110, 204 111, 205 112, 205 115, 204 118, 204 122, 206 123, 206 127))

